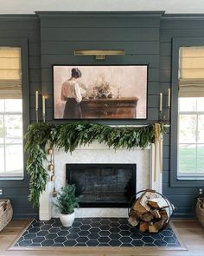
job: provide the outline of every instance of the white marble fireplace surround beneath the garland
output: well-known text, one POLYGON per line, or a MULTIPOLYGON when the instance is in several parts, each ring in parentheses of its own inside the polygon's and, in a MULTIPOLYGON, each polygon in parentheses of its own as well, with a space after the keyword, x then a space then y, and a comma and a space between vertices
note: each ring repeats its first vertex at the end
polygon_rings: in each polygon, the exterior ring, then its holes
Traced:
MULTIPOLYGON (((157 152, 159 152, 158 144, 156 147, 157 152)), ((162 193, 162 173, 159 170, 158 155, 157 158, 155 158, 154 152, 154 144, 145 149, 114 150, 98 142, 93 142, 89 146, 76 148, 72 154, 65 153, 62 149, 54 149, 56 190, 60 191, 60 188, 65 185, 67 163, 135 163, 137 165, 137 191, 152 188, 162 193)), ((47 165, 46 162, 45 165, 47 165)), ((46 191, 41 194, 40 198, 40 220, 50 220, 52 217, 59 216, 59 212, 57 212, 53 204, 54 198, 52 198, 52 190, 53 182, 48 179, 46 191)), ((103 207, 79 208, 76 210, 76 217, 127 217, 127 214, 127 208, 103 207)))

